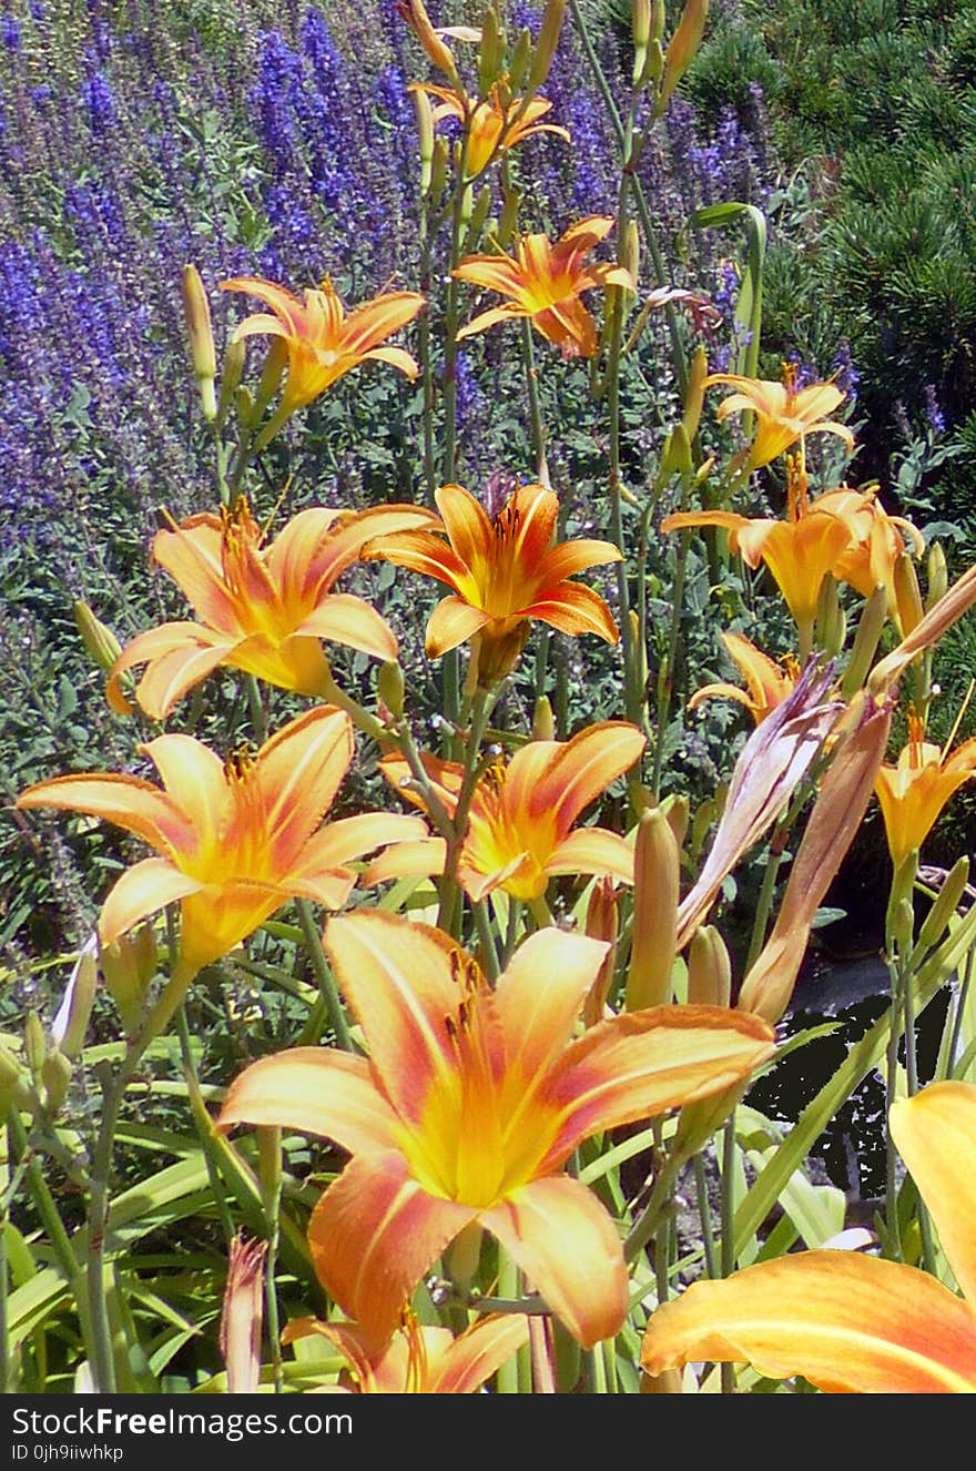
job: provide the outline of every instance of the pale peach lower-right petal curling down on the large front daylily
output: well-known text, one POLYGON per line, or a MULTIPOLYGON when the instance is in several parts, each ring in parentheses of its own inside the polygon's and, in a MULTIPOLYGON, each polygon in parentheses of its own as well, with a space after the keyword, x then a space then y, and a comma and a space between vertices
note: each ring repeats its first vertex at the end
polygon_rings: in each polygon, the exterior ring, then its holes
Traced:
POLYGON ((585 1186, 566 1175, 532 1180, 481 1219, 585 1349, 620 1331, 628 1309, 623 1249, 585 1186))

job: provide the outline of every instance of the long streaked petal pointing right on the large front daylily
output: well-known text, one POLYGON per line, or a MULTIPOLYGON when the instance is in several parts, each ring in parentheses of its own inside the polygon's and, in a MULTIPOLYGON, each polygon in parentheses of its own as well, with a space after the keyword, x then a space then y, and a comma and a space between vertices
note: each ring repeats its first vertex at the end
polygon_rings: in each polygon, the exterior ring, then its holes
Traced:
POLYGON ((545 1084, 563 1125, 539 1168, 554 1169, 598 1130, 741 1083, 773 1052, 772 1027, 720 1006, 650 1006, 600 1022, 566 1050, 545 1084))

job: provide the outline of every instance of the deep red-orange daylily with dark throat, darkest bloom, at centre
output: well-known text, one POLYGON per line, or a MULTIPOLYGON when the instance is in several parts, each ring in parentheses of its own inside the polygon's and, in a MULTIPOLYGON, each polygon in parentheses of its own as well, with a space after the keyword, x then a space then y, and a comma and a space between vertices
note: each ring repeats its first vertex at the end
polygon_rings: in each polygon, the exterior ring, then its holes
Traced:
POLYGON ((491 683, 517 659, 532 618, 564 634, 597 634, 616 644, 617 625, 603 597, 569 578, 601 562, 620 562, 620 550, 611 541, 553 546, 559 500, 551 490, 519 485, 494 519, 463 485, 441 485, 435 500, 450 546, 431 531, 395 531, 362 552, 366 562, 425 572, 453 590, 431 613, 429 659, 481 634, 479 675, 491 683))

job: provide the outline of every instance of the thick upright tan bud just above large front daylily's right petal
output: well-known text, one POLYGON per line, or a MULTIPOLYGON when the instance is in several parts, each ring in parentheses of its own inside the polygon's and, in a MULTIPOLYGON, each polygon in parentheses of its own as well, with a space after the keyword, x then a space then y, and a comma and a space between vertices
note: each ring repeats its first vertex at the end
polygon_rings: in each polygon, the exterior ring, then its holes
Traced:
POLYGON ((634 933, 626 1008, 642 1011, 672 999, 678 938, 679 853, 660 808, 644 812, 634 850, 634 933))

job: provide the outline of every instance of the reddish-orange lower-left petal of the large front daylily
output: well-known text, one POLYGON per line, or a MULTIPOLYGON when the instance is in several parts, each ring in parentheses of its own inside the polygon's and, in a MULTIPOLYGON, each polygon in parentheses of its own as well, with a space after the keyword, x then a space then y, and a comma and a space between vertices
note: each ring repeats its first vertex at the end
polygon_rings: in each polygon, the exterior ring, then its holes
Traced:
POLYGON ((428 1194, 400 1153, 356 1155, 312 1212, 319 1281, 372 1339, 385 1339, 416 1284, 476 1214, 428 1194))

